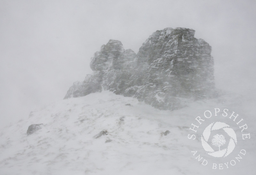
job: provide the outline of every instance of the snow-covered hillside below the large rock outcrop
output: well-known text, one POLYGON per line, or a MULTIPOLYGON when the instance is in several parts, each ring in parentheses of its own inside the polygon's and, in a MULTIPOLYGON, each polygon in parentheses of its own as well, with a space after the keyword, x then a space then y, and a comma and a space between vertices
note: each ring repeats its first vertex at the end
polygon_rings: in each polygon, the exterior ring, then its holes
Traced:
POLYGON ((109 91, 61 100, 1 130, 0 174, 256 174, 253 107, 234 94, 174 111, 109 91), (203 149, 201 141, 188 139, 195 117, 216 107, 243 115, 251 133, 237 145, 244 158, 224 170, 201 165, 191 153, 203 149), (39 123, 42 129, 27 135, 39 123), (108 134, 95 138, 100 131, 108 134))

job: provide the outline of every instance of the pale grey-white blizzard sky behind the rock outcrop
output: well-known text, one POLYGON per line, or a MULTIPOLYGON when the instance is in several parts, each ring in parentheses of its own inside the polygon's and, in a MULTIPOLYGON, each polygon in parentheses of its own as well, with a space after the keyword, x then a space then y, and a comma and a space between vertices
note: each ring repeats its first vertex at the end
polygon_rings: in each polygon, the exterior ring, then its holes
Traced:
POLYGON ((220 89, 255 90, 256 1, 0 0, 0 127, 63 99, 109 39, 138 52, 156 30, 185 27, 212 46, 220 89))

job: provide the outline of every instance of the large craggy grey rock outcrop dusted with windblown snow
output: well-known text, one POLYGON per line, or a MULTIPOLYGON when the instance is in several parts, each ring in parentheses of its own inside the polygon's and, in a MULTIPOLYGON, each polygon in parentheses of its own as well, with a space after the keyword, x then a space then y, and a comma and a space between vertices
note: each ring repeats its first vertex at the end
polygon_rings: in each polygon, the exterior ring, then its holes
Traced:
POLYGON ((109 40, 91 59, 93 75, 75 82, 66 98, 105 90, 135 97, 159 108, 177 109, 189 100, 214 95, 211 46, 194 37, 195 30, 157 30, 135 54, 120 41, 109 40))

